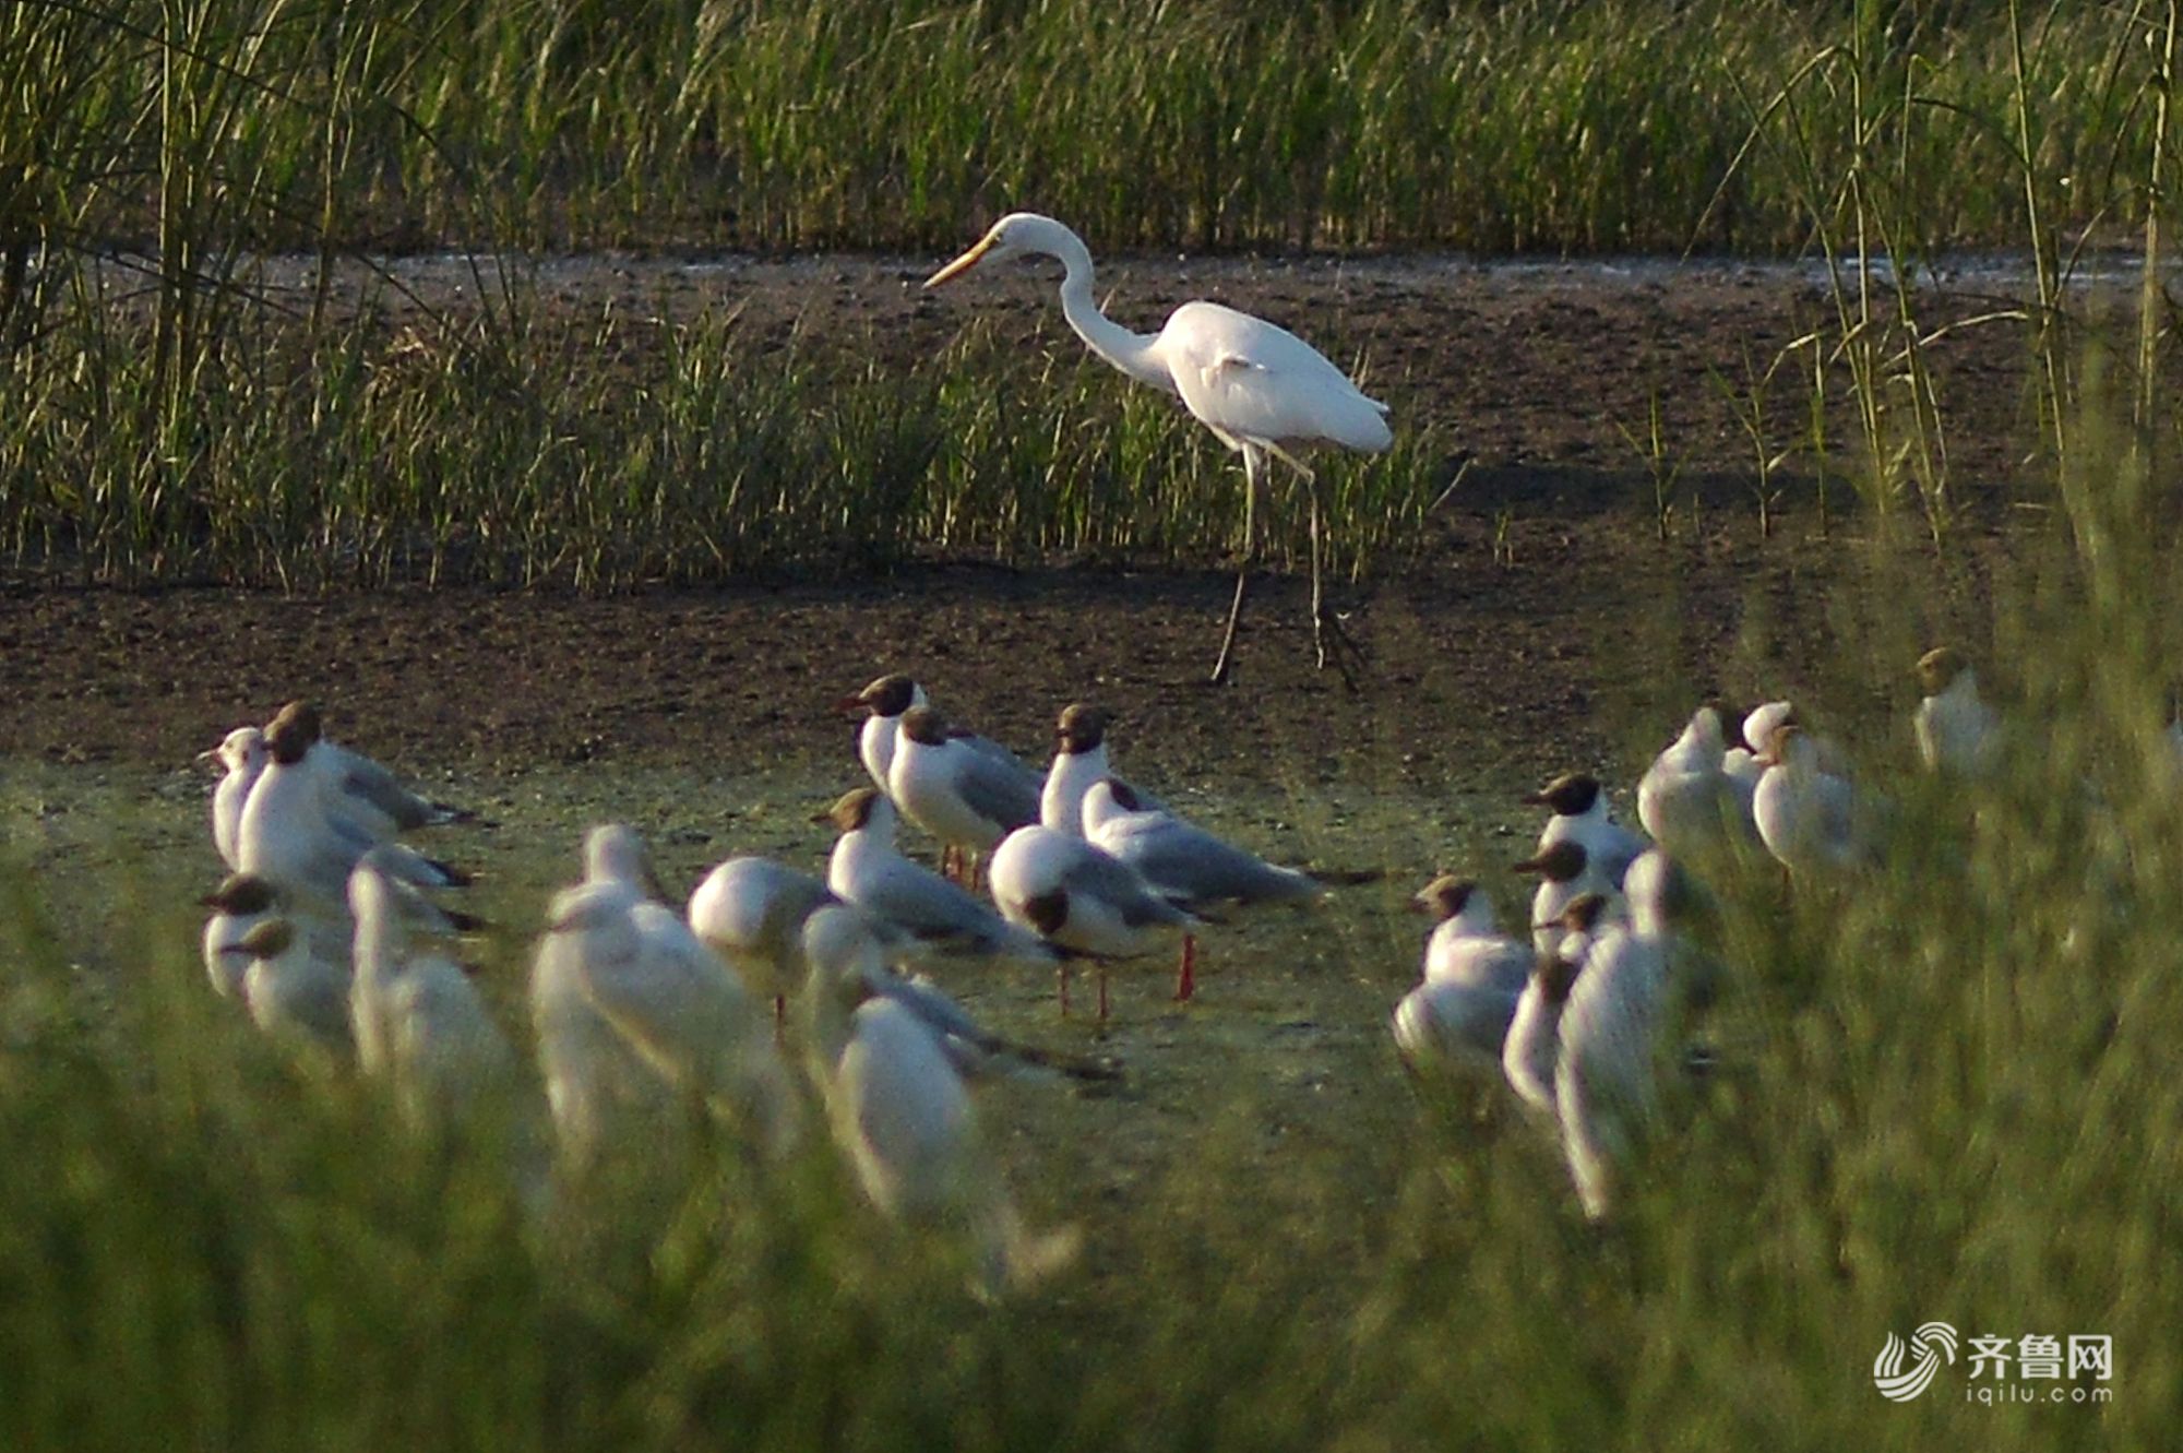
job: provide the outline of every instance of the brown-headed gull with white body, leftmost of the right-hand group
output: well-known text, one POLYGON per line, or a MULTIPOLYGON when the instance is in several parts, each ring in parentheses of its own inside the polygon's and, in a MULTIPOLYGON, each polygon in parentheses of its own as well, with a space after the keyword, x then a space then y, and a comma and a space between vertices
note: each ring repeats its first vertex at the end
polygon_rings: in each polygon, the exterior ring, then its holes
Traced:
POLYGON ((1439 921, 1423 982, 1395 1006, 1395 1047, 1410 1069, 1493 1076, 1532 953, 1500 934, 1493 905, 1469 879, 1436 877, 1410 903, 1439 921))

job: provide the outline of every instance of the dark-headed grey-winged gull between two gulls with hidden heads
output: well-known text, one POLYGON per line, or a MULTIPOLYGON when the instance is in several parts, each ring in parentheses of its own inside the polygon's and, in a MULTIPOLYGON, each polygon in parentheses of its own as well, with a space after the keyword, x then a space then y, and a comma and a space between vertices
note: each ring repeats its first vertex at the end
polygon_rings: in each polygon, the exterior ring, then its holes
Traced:
POLYGON ((843 901, 937 953, 1054 966, 1054 949, 1043 938, 904 857, 895 849, 895 805, 875 788, 843 794, 819 820, 840 827, 827 862, 827 888, 843 901))

